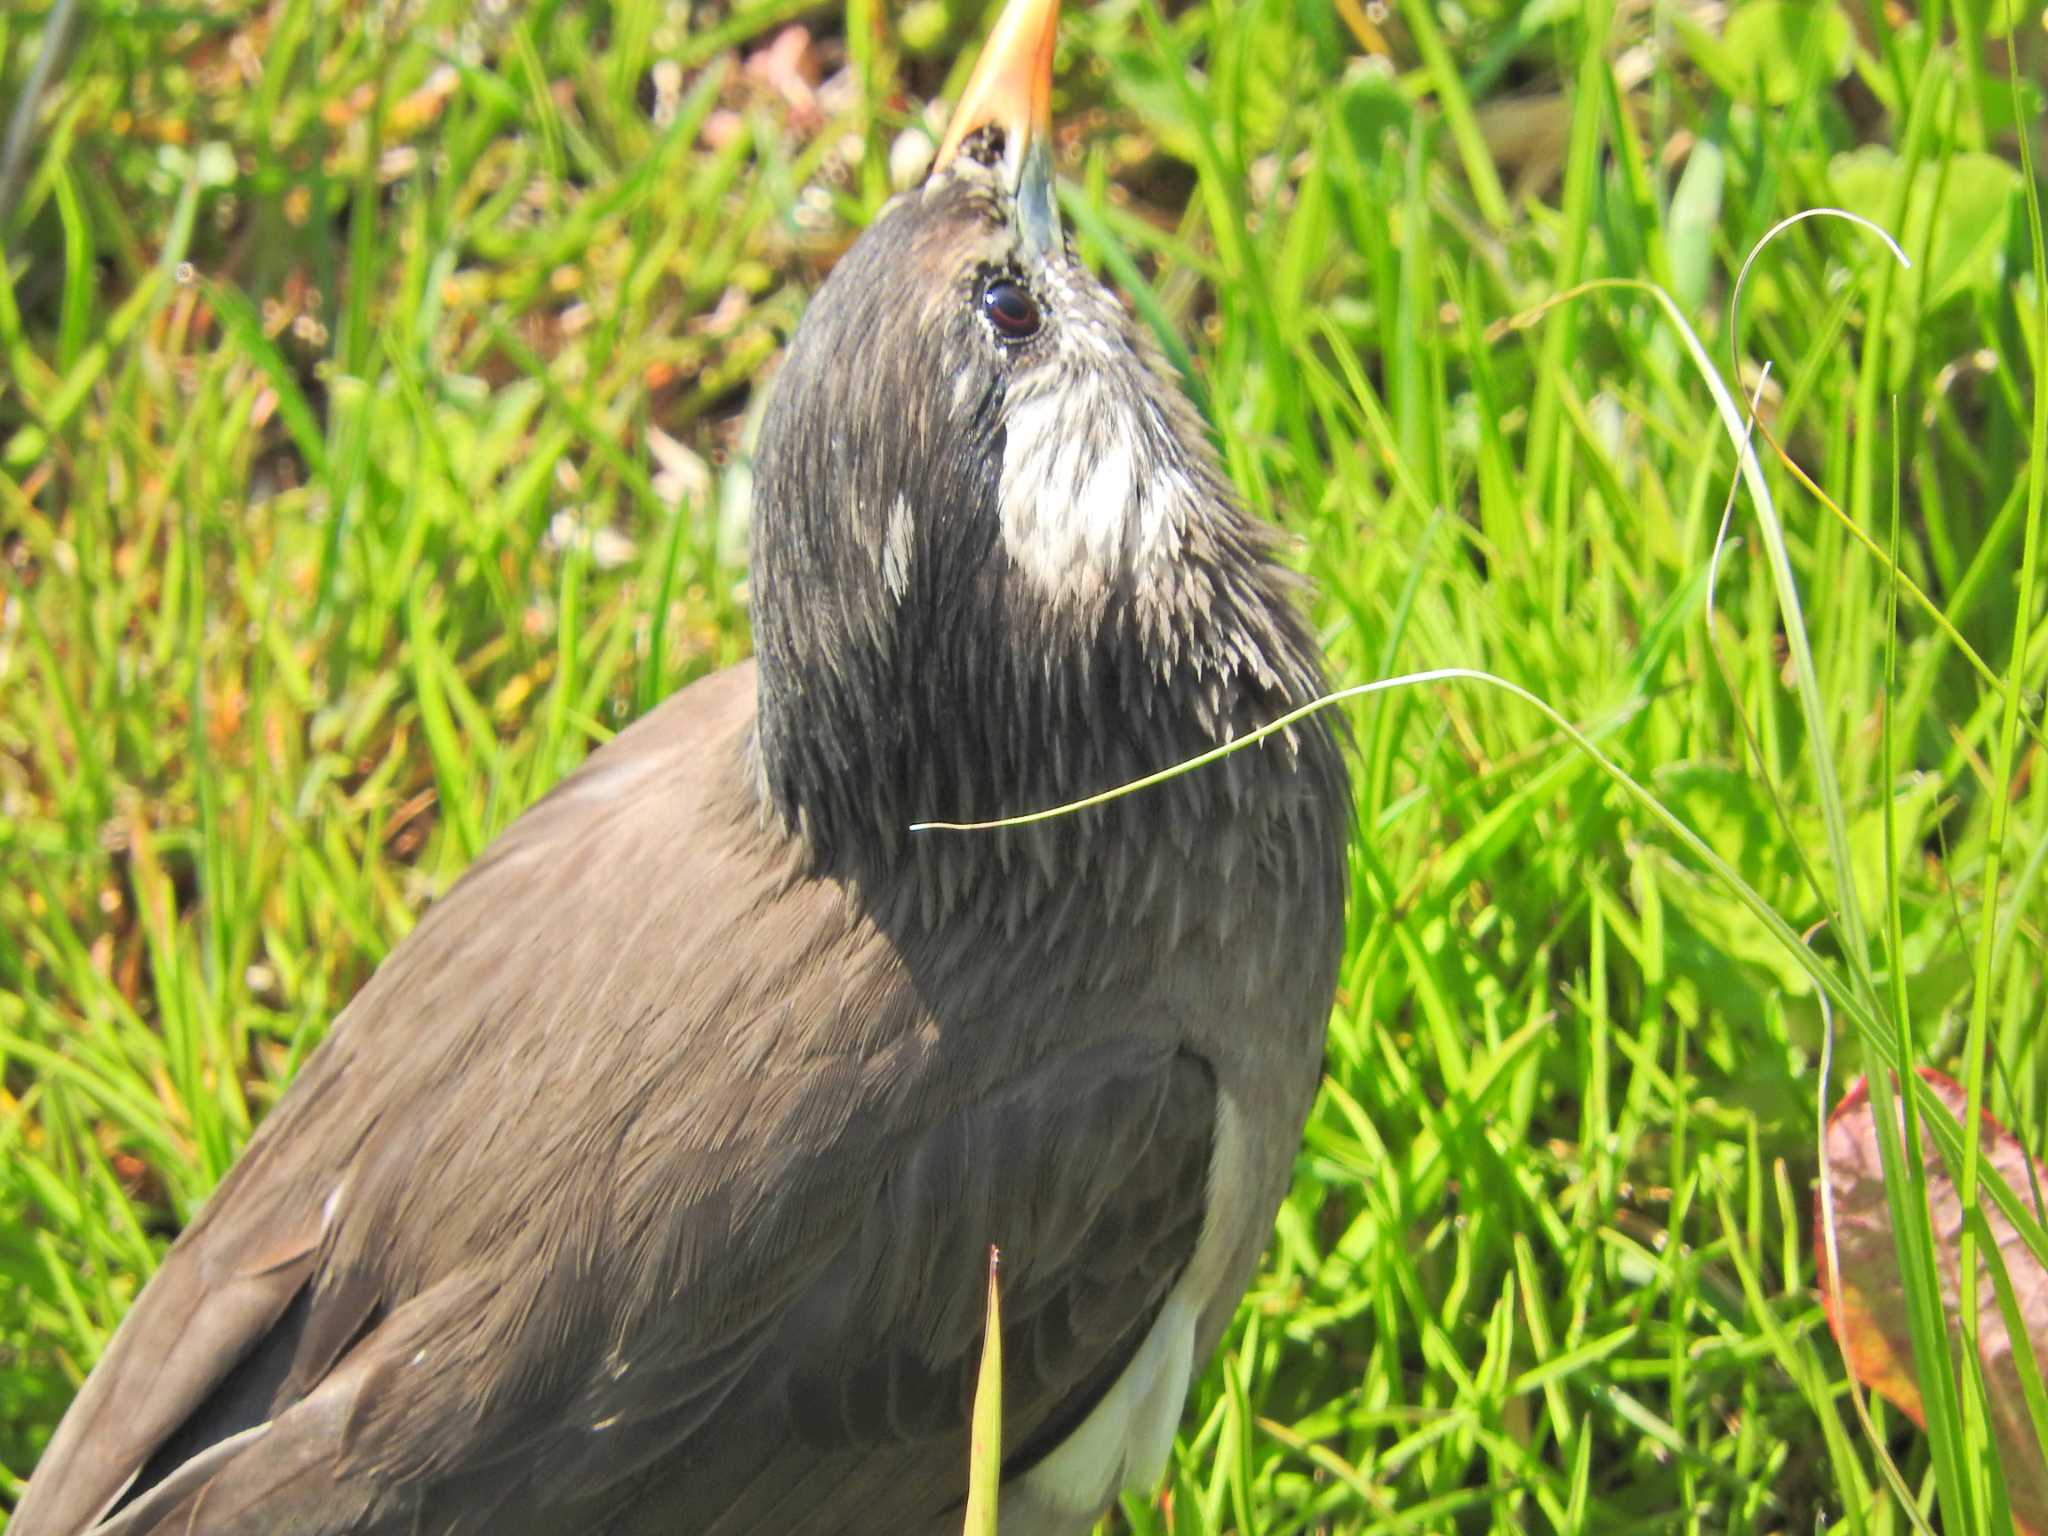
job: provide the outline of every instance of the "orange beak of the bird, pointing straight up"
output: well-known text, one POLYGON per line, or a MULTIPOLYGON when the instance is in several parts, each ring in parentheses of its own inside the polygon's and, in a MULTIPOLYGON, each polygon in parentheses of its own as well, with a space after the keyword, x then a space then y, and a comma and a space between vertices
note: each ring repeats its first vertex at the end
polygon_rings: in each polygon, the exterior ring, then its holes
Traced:
POLYGON ((1059 0, 1010 0, 995 18, 975 74, 932 162, 936 176, 981 127, 1004 133, 1004 174, 1016 207, 1018 233, 1038 252, 1059 248, 1059 203, 1053 197, 1053 39, 1059 0))

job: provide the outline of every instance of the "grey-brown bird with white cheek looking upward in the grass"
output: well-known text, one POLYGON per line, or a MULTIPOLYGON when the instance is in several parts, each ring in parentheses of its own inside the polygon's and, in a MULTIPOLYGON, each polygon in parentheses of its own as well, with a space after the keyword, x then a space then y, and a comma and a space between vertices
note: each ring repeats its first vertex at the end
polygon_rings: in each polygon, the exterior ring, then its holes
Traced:
POLYGON ((1057 0, 834 262, 756 449, 754 657, 596 748, 334 1020, 14 1536, 958 1532, 1157 1485, 1292 1180, 1341 729, 1280 535, 1077 258, 1057 0))

